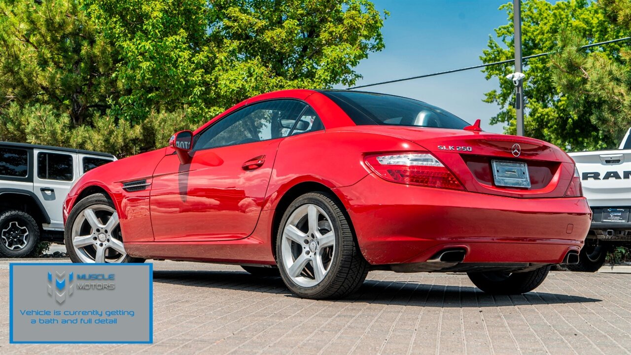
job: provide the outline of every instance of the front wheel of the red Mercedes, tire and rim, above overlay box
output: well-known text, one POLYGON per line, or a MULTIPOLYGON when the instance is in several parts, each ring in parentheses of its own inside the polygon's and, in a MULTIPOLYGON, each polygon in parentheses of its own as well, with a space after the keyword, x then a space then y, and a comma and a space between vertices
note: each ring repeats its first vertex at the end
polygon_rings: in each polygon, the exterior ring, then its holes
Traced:
POLYGON ((87 196, 74 205, 66 221, 64 243, 73 263, 144 262, 124 251, 114 203, 102 193, 87 196), (112 220, 114 214, 116 218, 112 220))

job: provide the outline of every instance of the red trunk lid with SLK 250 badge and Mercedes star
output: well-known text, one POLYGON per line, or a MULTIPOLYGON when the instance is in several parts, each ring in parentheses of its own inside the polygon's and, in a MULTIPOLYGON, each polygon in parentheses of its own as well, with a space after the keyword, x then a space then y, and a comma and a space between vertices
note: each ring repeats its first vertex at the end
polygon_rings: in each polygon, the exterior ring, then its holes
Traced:
POLYGON ((574 176, 574 162, 567 153, 534 138, 463 129, 373 126, 371 130, 413 141, 432 152, 471 192, 516 198, 563 197, 574 176), (531 186, 500 186, 493 176, 493 160, 519 166, 525 163, 531 186))

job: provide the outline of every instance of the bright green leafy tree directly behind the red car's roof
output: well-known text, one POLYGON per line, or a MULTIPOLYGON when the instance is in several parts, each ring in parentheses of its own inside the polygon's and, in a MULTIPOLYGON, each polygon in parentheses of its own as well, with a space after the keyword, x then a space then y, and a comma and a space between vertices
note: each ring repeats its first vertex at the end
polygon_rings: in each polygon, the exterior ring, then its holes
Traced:
POLYGON ((184 108, 204 121, 257 93, 352 85, 380 51, 383 18, 367 0, 88 0, 121 52, 130 119, 184 108))

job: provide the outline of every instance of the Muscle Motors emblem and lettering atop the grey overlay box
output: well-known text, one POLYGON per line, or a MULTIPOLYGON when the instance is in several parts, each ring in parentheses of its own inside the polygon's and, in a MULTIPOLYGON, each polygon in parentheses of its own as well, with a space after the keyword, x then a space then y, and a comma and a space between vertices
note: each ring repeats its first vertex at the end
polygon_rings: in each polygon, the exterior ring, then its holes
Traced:
POLYGON ((115 289, 114 274, 77 274, 48 272, 48 294, 62 304, 74 291, 108 291, 115 289))

